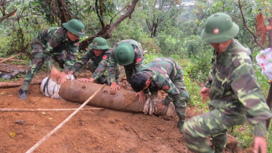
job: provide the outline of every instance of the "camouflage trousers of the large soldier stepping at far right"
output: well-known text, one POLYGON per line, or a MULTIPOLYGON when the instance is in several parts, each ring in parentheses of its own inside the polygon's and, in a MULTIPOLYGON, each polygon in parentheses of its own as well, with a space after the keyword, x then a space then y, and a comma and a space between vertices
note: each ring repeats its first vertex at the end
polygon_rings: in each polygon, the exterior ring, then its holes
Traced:
POLYGON ((223 153, 227 145, 227 128, 246 122, 245 112, 235 114, 210 106, 210 112, 192 117, 184 123, 184 135, 188 148, 196 153, 223 153), (212 137, 213 150, 206 137, 212 137))

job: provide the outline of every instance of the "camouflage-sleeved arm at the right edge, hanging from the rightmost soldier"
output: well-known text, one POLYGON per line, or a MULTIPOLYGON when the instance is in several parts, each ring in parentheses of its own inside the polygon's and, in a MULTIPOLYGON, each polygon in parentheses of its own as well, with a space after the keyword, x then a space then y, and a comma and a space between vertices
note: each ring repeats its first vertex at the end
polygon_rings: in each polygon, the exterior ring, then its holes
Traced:
POLYGON ((236 68, 232 72, 232 90, 245 106, 246 116, 254 127, 255 136, 265 137, 265 120, 271 118, 271 113, 255 80, 252 61, 246 52, 239 53, 233 59, 236 68))

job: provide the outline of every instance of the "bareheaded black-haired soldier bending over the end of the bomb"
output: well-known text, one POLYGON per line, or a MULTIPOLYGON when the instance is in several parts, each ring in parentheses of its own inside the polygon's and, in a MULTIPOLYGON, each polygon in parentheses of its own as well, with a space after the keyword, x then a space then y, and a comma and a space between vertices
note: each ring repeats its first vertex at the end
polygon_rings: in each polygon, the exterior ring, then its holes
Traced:
POLYGON ((186 101, 189 93, 184 86, 183 70, 171 58, 155 58, 140 68, 139 73, 134 74, 130 81, 131 87, 136 92, 149 89, 152 95, 157 95, 158 90, 168 93, 164 100, 155 104, 156 114, 163 112, 168 103, 173 101, 176 115, 178 116, 178 128, 183 131, 185 121, 186 101))

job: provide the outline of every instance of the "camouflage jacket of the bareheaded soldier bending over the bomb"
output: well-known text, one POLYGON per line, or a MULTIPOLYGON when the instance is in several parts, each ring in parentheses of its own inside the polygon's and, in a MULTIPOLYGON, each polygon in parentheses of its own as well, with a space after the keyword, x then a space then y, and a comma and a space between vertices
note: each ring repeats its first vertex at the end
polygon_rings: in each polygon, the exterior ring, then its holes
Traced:
POLYGON ((178 75, 183 75, 183 70, 171 58, 158 57, 140 68, 139 73, 146 73, 151 81, 148 87, 149 91, 154 94, 158 90, 163 90, 168 95, 165 97, 165 102, 170 103, 179 96, 179 90, 173 84, 173 81, 178 75))

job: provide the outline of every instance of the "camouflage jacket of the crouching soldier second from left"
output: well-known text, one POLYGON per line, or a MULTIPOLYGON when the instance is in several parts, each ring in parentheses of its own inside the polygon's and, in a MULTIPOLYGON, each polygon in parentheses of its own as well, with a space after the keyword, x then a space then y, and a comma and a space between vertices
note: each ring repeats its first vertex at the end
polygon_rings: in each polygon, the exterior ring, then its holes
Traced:
POLYGON ((77 72, 79 69, 81 69, 90 59, 94 63, 96 63, 98 66, 94 73, 91 75, 91 78, 94 78, 95 80, 102 76, 102 74, 105 72, 105 70, 108 67, 108 61, 109 57, 112 53, 112 49, 108 48, 104 50, 104 52, 96 57, 93 53, 92 49, 89 48, 87 50, 87 53, 85 53, 71 68, 72 71, 77 72))

